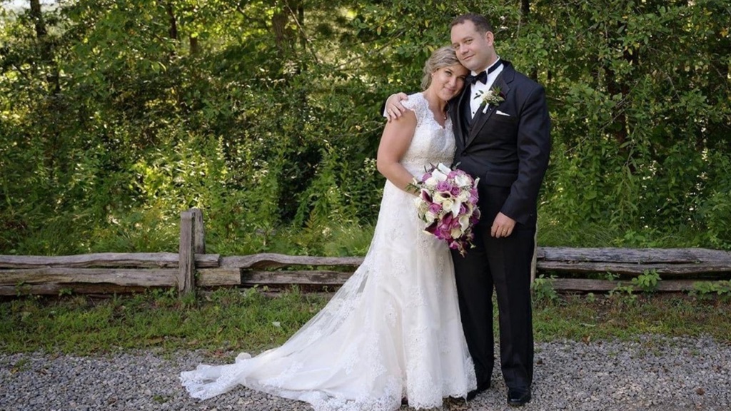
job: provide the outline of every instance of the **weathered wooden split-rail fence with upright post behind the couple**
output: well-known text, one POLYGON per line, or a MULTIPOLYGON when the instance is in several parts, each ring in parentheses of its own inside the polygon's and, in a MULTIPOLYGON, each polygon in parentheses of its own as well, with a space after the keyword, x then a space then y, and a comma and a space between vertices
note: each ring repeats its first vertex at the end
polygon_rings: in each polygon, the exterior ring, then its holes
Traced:
MULTIPOLYGON (((58 257, 0 255, 0 295, 110 294, 176 287, 285 287, 343 284, 363 257, 205 253, 202 212, 181 213, 178 253, 96 253, 58 257)), ((730 280, 731 252, 714 249, 537 247, 534 276, 551 278, 554 290, 607 292, 655 272, 661 292, 692 290, 694 283, 730 280), (605 278, 592 279, 602 274, 605 278)))

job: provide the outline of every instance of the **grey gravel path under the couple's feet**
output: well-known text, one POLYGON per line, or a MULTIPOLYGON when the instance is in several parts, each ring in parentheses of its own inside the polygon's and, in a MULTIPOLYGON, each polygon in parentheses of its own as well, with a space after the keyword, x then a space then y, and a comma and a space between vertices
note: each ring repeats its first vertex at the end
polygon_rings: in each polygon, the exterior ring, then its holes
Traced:
MULTIPOLYGON (((179 385, 179 372, 229 360, 203 352, 0 355, 0 410, 310 410, 246 388, 197 401, 179 385)), ((710 338, 542 343, 535 360, 533 401, 520 410, 731 410, 731 346, 710 338)), ((493 388, 444 410, 508 410, 505 393, 497 370, 493 388)))

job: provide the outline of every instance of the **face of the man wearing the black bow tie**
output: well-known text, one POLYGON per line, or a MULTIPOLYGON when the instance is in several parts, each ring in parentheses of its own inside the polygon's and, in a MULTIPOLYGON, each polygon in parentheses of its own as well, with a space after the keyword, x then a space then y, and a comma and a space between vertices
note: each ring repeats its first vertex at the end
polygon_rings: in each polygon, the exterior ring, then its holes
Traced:
POLYGON ((495 61, 493 34, 480 34, 470 20, 452 26, 452 47, 460 63, 473 72, 481 72, 495 61))

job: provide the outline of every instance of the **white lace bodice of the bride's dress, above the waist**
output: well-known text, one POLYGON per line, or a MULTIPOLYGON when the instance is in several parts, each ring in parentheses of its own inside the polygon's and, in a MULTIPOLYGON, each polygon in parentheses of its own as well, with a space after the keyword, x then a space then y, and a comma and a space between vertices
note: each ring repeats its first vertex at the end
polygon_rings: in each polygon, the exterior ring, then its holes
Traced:
POLYGON ((401 102, 404 107, 416 114, 416 129, 409 150, 401 159, 401 164, 414 176, 420 177, 425 168, 444 163, 451 165, 455 155, 455 137, 452 131, 452 120, 442 127, 429 110, 429 102, 422 93, 414 93, 409 99, 401 102))

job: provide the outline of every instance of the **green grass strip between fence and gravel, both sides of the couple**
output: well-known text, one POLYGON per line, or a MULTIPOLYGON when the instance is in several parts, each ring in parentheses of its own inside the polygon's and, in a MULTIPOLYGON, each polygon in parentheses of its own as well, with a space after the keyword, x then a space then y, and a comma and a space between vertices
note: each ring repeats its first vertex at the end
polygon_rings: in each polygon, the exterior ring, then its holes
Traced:
MULTIPOLYGON (((298 288, 276 295, 220 289, 197 298, 177 298, 173 290, 105 299, 15 298, 0 303, 0 352, 260 352, 286 341, 328 298, 298 288)), ((534 329, 537 342, 653 333, 731 343, 731 304, 689 295, 561 295, 535 303, 534 329)))

